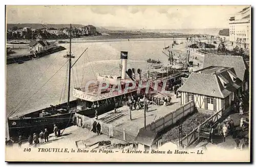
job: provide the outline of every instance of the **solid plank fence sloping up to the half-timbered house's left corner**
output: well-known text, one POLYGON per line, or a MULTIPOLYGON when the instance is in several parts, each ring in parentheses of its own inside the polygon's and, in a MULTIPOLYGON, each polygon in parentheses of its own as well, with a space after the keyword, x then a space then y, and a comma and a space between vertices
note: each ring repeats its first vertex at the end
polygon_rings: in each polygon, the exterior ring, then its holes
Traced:
POLYGON ((160 132, 164 128, 170 125, 174 125, 187 114, 194 112, 194 106, 194 101, 190 101, 177 108, 176 110, 164 115, 163 117, 160 117, 158 120, 152 122, 151 124, 148 124, 146 126, 146 130, 153 131, 155 133, 160 132))

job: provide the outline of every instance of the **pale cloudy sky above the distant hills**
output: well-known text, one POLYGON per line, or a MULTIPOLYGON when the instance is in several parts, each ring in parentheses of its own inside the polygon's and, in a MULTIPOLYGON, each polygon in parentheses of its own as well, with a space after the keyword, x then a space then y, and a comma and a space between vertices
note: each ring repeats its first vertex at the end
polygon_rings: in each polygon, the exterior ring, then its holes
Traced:
POLYGON ((6 6, 7 23, 73 23, 127 29, 228 28, 245 6, 6 6))

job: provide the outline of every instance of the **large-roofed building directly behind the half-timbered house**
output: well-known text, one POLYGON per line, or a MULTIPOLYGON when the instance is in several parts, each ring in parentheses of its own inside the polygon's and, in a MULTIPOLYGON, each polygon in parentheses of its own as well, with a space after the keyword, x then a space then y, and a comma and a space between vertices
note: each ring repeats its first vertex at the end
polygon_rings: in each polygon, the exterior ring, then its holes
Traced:
POLYGON ((208 66, 223 66, 233 67, 238 78, 243 82, 242 90, 248 90, 249 86, 249 67, 245 63, 242 56, 228 56, 228 55, 205 55, 203 68, 208 66))

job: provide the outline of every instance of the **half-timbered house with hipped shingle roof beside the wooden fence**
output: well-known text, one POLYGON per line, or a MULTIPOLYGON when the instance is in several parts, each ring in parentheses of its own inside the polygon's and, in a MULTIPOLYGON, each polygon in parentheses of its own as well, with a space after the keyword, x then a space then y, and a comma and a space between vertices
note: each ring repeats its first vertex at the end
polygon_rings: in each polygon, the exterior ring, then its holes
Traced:
POLYGON ((181 105, 194 100, 198 111, 224 111, 242 92, 242 81, 232 67, 208 66, 192 73, 178 91, 181 105))

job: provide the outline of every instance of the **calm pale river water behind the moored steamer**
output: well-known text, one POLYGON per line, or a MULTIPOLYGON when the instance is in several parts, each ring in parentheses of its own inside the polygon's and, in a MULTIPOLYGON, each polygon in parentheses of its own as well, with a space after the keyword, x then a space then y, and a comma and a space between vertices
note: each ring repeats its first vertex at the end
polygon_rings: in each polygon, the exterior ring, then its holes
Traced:
MULTIPOLYGON (((82 76, 86 78, 86 80, 83 81, 83 83, 85 83, 88 80, 96 79, 96 73, 118 75, 120 51, 129 52, 127 68, 136 68, 136 71, 137 68, 147 68, 146 59, 148 58, 167 61, 167 56, 162 54, 164 42, 168 45, 172 43, 173 40, 73 43, 72 52, 76 58, 72 59, 72 62, 74 62, 87 47, 88 51, 83 54, 73 67, 71 74, 74 74, 73 76, 75 76, 76 82, 74 82, 73 77, 71 77, 71 90, 73 90, 74 86, 81 85, 82 76), (83 68, 83 66, 86 68, 83 68), (84 73, 83 69, 85 69, 84 73)), ((48 107, 51 104, 55 105, 63 102, 60 100, 60 96, 67 74, 68 63, 51 78, 67 61, 67 59, 62 56, 69 51, 69 43, 61 45, 65 46, 67 50, 40 59, 27 61, 24 64, 7 65, 7 115, 9 115, 14 108, 18 108, 18 111, 16 111, 14 115, 19 115, 48 107), (50 81, 47 82, 49 79, 50 81), (46 82, 47 84, 45 84, 46 82), (41 86, 43 87, 37 91, 41 86)), ((71 99, 74 99, 72 95, 71 99)), ((67 93, 65 97, 65 102, 66 101, 67 93)))

